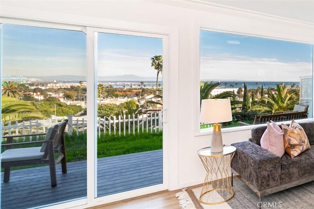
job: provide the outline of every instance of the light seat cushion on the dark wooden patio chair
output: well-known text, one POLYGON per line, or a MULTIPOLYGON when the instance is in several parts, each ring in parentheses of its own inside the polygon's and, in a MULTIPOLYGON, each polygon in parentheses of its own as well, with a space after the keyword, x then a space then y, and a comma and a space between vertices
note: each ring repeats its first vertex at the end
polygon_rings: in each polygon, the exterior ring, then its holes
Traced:
POLYGON ((1 153, 1 161, 13 162, 42 159, 44 152, 40 152, 40 148, 41 147, 7 149, 1 153))

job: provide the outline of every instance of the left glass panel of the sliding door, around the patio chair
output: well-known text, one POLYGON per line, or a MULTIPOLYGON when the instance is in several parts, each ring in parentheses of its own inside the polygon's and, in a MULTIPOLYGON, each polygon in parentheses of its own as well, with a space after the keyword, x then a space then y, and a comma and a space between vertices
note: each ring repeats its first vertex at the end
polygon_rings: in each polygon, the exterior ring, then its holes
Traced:
MULTIPOLYGON (((64 134, 67 172, 56 164, 57 186, 51 186, 48 164, 12 166, 9 181, 1 183, 1 208, 37 208, 86 197, 86 35, 3 24, 1 58, 2 145, 10 136, 13 142, 43 140, 45 135, 37 134, 65 119, 69 123, 64 134)), ((42 142, 23 146, 40 148, 42 142)))

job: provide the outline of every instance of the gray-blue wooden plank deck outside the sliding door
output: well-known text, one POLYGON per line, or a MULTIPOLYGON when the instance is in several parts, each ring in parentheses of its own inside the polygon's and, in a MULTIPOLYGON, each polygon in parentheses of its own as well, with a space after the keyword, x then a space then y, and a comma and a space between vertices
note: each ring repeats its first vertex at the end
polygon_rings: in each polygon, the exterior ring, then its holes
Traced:
MULTIPOLYGON (((86 197, 86 161, 57 165, 57 186, 50 185, 48 166, 11 171, 1 184, 1 209, 36 208, 86 197)), ((162 150, 98 159, 98 196, 162 184, 162 150)), ((3 173, 1 173, 3 179, 3 173)))

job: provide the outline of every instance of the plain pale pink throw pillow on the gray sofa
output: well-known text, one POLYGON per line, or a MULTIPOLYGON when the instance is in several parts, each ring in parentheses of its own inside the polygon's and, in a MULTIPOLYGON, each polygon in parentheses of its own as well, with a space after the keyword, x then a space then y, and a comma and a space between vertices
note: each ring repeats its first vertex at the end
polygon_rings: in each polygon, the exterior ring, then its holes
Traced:
POLYGON ((284 133, 275 122, 267 122, 267 128, 261 138, 261 146, 279 157, 285 154, 284 133))

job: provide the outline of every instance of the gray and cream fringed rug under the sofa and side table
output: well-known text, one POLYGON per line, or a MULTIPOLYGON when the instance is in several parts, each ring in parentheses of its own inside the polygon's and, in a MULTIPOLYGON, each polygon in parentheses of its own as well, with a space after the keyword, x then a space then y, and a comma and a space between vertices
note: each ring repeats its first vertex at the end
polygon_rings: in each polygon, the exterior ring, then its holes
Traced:
POLYGON ((184 189, 176 196, 182 209, 312 209, 314 208, 314 182, 295 186, 260 198, 240 179, 234 179, 235 196, 226 203, 205 205, 198 201, 201 187, 184 189))

